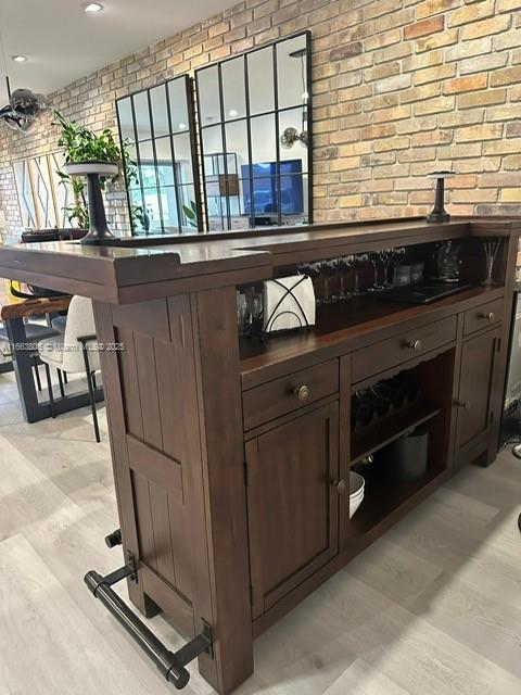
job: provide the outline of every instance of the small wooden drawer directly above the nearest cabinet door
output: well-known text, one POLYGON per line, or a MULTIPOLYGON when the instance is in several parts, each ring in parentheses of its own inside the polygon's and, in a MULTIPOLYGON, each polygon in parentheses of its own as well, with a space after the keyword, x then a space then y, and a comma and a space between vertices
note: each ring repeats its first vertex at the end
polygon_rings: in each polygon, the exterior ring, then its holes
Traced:
POLYGON ((339 362, 331 359, 244 391, 244 430, 296 410, 338 390, 339 362))

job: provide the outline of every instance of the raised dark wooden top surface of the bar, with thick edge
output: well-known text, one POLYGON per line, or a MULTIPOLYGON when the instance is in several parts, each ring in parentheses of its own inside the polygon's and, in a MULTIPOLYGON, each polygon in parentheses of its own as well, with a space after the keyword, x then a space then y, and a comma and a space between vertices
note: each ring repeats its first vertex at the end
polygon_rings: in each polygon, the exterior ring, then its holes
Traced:
POLYGON ((372 249, 468 236, 521 232, 521 217, 423 217, 269 228, 266 231, 117 239, 113 245, 78 241, 0 247, 0 276, 111 303, 271 277, 290 263, 372 249))

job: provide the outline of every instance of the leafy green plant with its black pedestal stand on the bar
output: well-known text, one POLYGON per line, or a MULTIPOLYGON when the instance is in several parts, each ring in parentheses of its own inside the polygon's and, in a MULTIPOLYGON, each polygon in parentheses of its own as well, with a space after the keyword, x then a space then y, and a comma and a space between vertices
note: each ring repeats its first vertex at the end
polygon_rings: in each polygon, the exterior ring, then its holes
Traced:
POLYGON ((74 121, 67 121, 58 111, 54 118, 53 125, 61 127, 59 146, 65 155, 65 167, 59 175, 62 180, 71 180, 75 197, 74 206, 67 208, 69 220, 77 219, 80 226, 89 224, 89 232, 81 239, 82 243, 100 244, 114 239, 106 226, 101 191, 107 178, 117 177, 122 156, 128 157, 127 152, 124 148, 122 155, 113 132, 107 128, 97 135, 74 121))

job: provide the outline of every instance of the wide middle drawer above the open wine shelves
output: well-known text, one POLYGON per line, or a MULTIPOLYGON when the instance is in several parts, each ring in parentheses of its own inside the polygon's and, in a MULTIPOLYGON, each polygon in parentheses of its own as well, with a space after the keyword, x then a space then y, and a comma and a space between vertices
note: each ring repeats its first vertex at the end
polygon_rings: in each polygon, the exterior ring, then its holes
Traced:
POLYGON ((360 381, 456 340, 456 324, 457 317, 449 316, 355 352, 352 358, 353 381, 360 381))

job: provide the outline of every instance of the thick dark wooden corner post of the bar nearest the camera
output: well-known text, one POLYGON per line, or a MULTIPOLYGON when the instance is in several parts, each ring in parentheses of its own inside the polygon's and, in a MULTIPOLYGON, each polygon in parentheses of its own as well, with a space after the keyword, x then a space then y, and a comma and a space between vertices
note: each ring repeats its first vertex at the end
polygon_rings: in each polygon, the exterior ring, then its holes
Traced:
POLYGON ((229 693, 253 672, 236 289, 200 292, 192 306, 199 330, 195 362, 204 422, 203 486, 213 623, 217 626, 217 681, 213 684, 229 693))

